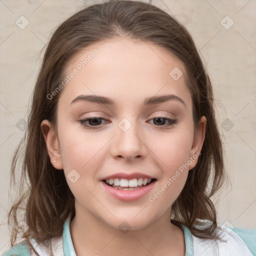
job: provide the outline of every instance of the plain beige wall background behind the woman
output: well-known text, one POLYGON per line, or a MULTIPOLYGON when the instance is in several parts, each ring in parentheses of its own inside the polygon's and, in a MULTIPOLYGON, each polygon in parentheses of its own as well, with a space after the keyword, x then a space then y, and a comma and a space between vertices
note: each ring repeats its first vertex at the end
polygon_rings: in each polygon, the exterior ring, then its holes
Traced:
MULTIPOLYGON (((0 0, 0 253, 9 247, 10 163, 23 135, 17 126, 27 117, 41 61, 39 52, 59 22, 90 2, 98 1, 0 0), (21 15, 29 22, 23 29, 15 23, 21 15)), ((152 3, 173 14, 190 31, 212 79, 232 182, 221 193, 218 222, 256 228, 256 1, 152 3)))

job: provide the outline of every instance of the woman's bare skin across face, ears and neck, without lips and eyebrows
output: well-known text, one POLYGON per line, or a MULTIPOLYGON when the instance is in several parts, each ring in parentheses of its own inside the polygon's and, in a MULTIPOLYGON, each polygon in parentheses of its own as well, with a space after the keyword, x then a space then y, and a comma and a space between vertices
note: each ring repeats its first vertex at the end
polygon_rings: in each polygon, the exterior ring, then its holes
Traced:
POLYGON ((169 221, 171 204, 198 158, 154 202, 148 199, 201 150, 205 137, 204 116, 197 128, 193 127, 184 65, 150 42, 119 37, 80 50, 68 62, 65 73, 72 72, 94 48, 98 54, 60 92, 56 132, 48 120, 41 123, 49 156, 56 161, 53 166, 63 169, 65 176, 72 169, 80 175, 74 183, 66 178, 75 197, 70 232, 76 255, 185 255, 183 232, 169 221), (169 75, 174 67, 183 73, 178 80, 169 75), (107 96, 117 105, 85 101, 70 105, 80 94, 107 96), (179 96, 186 106, 169 100, 142 107, 145 97, 165 94, 179 96), (105 118, 95 129, 78 122, 93 114, 105 118), (178 122, 166 126, 167 120, 158 124, 156 117, 178 122), (131 124, 127 131, 118 126, 122 118, 131 124), (121 171, 142 172, 157 181, 144 197, 121 201, 100 185, 103 177, 121 171), (126 233, 118 228, 123 221, 130 226, 126 233))

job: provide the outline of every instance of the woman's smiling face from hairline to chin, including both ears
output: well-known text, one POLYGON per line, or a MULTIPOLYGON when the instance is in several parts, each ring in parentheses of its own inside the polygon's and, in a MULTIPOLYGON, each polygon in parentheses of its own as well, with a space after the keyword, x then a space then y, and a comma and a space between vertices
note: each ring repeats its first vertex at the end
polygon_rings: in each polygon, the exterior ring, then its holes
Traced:
POLYGON ((49 125, 48 152, 63 168, 76 214, 131 229, 169 219, 205 132, 205 122, 193 127, 182 62, 152 43, 117 38, 78 52, 65 74, 57 134, 47 120, 42 130, 49 125), (105 183, 111 179, 117 188, 105 183))

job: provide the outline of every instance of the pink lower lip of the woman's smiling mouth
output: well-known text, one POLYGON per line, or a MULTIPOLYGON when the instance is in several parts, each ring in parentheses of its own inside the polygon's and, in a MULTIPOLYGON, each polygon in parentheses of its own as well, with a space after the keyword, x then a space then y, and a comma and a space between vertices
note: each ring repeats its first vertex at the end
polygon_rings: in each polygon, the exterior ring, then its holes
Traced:
POLYGON ((150 184, 143 186, 141 188, 135 190, 121 190, 118 188, 111 187, 107 185, 104 181, 100 181, 102 186, 106 189, 106 191, 112 195, 113 197, 122 200, 122 201, 134 201, 138 200, 144 195, 146 195, 154 186, 156 180, 151 182, 150 184))

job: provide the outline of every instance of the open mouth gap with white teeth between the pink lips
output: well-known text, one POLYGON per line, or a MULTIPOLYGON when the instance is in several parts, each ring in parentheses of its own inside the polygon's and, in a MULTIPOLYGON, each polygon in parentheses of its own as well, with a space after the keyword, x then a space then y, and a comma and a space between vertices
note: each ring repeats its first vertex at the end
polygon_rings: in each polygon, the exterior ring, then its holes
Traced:
POLYGON ((110 178, 110 179, 103 179, 102 181, 113 188, 120 189, 120 190, 136 190, 142 187, 148 186, 152 182, 154 182, 156 178, 132 178, 132 179, 125 179, 125 178, 110 178))

